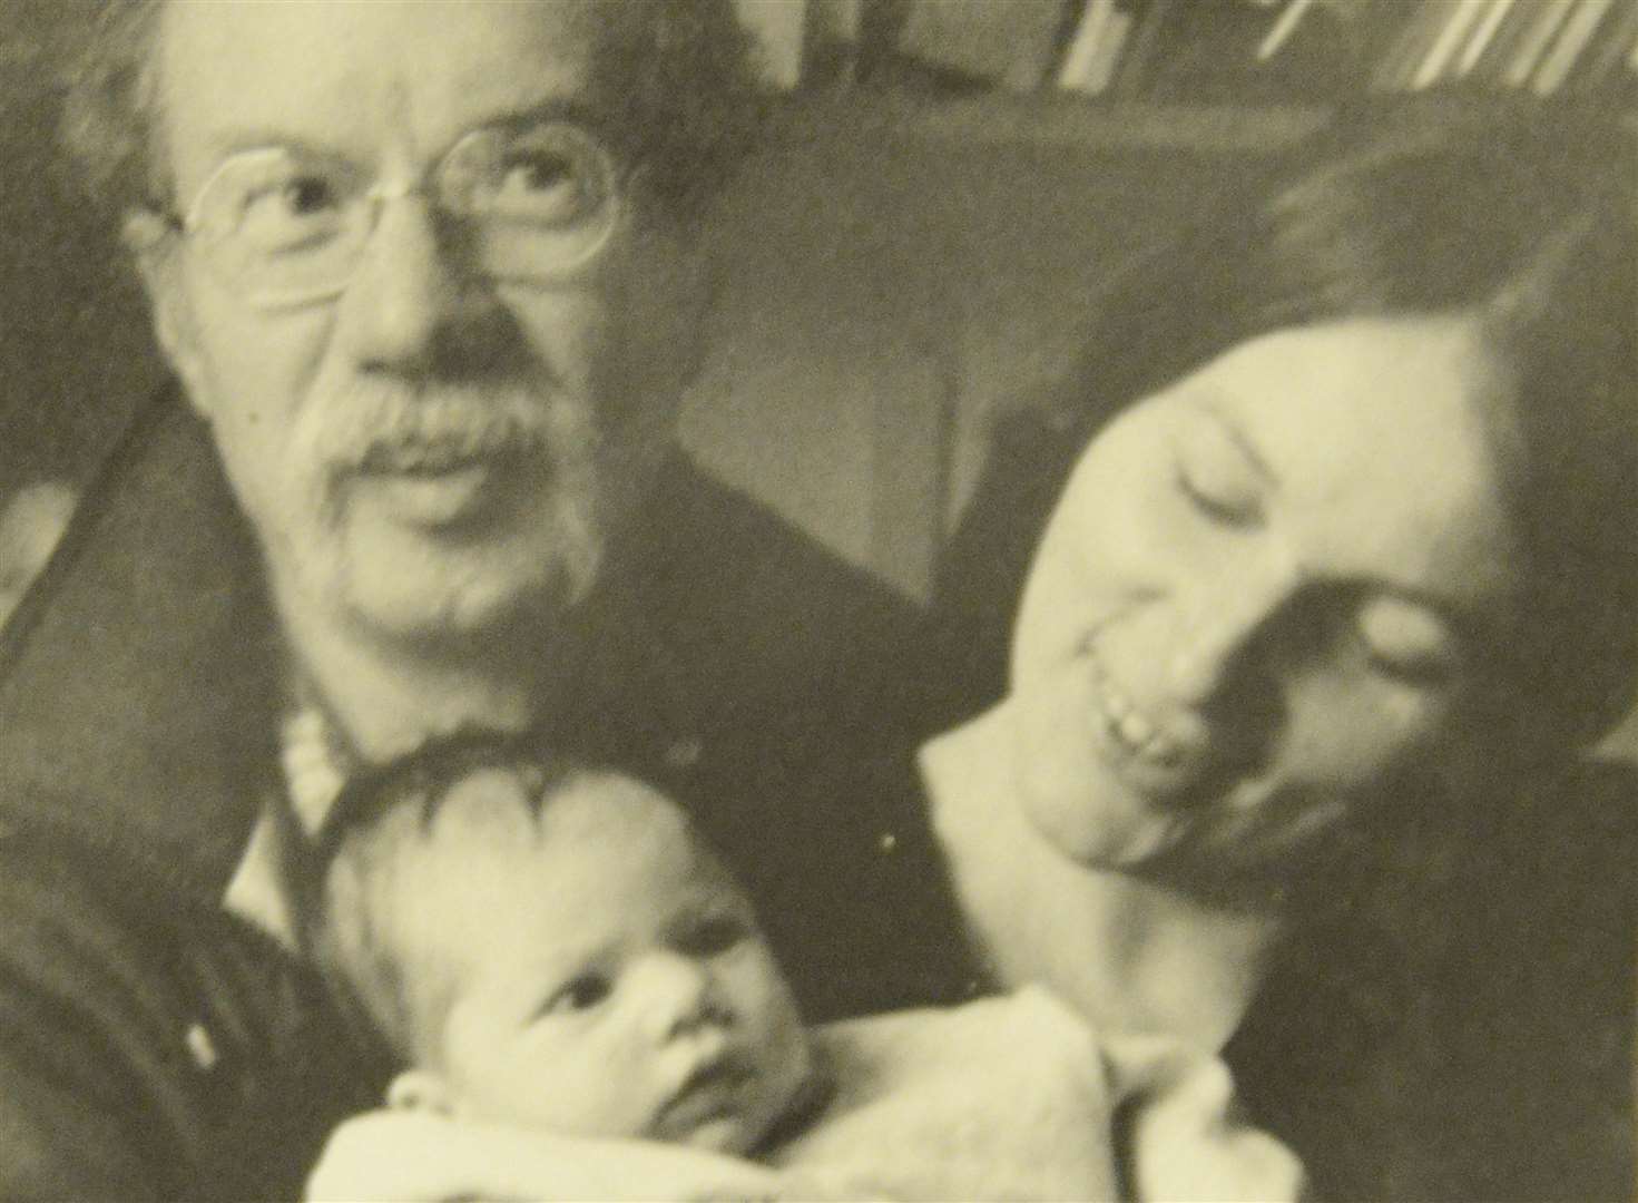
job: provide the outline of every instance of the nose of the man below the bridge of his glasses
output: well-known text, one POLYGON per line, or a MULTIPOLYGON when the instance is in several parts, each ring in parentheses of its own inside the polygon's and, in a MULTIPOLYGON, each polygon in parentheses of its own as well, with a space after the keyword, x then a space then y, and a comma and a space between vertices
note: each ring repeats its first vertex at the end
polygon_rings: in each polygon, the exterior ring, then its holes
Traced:
POLYGON ((421 197, 382 203, 342 297, 341 336, 357 365, 423 361, 462 310, 482 305, 457 251, 421 197))

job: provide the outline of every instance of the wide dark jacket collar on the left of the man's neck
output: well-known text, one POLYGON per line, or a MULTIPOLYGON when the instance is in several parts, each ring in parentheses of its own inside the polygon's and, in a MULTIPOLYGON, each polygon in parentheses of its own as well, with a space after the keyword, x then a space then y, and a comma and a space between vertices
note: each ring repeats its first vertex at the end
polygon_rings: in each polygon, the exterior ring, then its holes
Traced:
POLYGON ((277 654, 208 429, 151 402, 0 636, 0 806, 218 892, 269 764, 277 654))

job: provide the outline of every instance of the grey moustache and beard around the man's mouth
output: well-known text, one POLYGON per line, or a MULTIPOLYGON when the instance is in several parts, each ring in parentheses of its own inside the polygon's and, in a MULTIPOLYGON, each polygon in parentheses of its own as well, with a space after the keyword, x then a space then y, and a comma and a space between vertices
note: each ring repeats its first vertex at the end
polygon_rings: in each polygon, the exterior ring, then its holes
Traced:
POLYGON ((482 628, 496 608, 513 610, 526 602, 573 606, 596 580, 606 544, 601 444, 588 400, 524 379, 321 380, 288 444, 296 464, 311 465, 298 485, 306 495, 295 500, 316 521, 310 531, 316 538, 305 547, 287 546, 285 554, 306 561, 295 567, 310 588, 329 593, 344 610, 373 611, 360 616, 378 618, 382 569, 367 562, 367 546, 354 546, 347 513, 351 483, 369 472, 488 461, 503 465, 519 490, 531 492, 511 521, 534 523, 534 531, 521 542, 516 529, 503 533, 509 538, 496 536, 498 546, 488 549, 488 559, 482 549, 434 549, 429 539, 423 557, 406 557, 403 597, 388 597, 388 608, 401 621, 387 626, 459 636, 482 628), (416 567, 426 570, 416 574, 416 567), (514 579, 516 597, 490 597, 501 577, 514 579), (426 597, 410 597, 411 580, 426 597))

